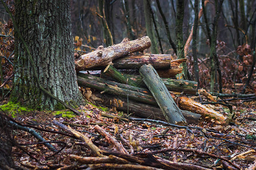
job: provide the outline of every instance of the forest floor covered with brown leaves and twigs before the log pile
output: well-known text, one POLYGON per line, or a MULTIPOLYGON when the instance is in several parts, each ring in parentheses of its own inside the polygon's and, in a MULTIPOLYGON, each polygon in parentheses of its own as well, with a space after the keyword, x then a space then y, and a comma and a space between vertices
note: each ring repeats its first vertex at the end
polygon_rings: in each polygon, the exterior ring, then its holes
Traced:
MULTIPOLYGON (((230 114, 227 108, 212 105, 210 107, 225 116, 230 114)), ((39 111, 16 114, 14 119, 20 124, 55 131, 56 133, 52 133, 31 128, 46 141, 59 141, 60 143, 51 145, 60 152, 56 154, 42 143, 36 144, 39 141, 31 133, 14 128, 14 139, 19 143, 19 147, 13 147, 12 158, 15 164, 28 169, 152 169, 154 163, 156 169, 196 169, 193 165, 197 165, 199 169, 246 169, 255 166, 256 163, 255 101, 247 105, 233 106, 234 118, 229 125, 216 125, 214 121, 204 121, 203 118, 197 125, 177 127, 147 119, 127 122, 126 118, 122 118, 125 116, 124 113, 113 113, 92 104, 86 104, 80 111, 83 115, 72 118, 39 111), (114 117, 110 118, 108 114, 114 117), (92 159, 77 163, 77 160, 73 159, 74 155, 91 158, 97 156, 86 148, 80 139, 67 136, 66 132, 64 135, 57 133, 60 129, 52 123, 53 120, 71 126, 72 129, 90 138, 101 151, 112 152, 112 155, 122 158, 126 163, 110 161, 110 157, 109 162, 92 159), (110 142, 108 138, 102 137, 95 129, 97 125, 118 142, 110 142), (118 154, 118 143, 124 146, 126 154, 118 154), (163 165, 159 159, 170 162, 163 165)), ((106 152, 103 153, 108 155, 106 152)))

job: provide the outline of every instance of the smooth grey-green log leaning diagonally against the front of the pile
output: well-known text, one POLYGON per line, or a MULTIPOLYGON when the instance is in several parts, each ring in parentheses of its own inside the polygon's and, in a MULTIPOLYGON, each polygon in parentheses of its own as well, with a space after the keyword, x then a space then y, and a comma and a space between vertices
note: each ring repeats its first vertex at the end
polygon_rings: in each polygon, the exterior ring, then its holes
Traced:
POLYGON ((167 122, 171 124, 185 122, 185 118, 181 114, 180 109, 175 104, 174 99, 172 99, 170 92, 160 79, 158 73, 156 73, 154 67, 151 65, 143 65, 141 69, 139 69, 139 73, 162 110, 167 122))

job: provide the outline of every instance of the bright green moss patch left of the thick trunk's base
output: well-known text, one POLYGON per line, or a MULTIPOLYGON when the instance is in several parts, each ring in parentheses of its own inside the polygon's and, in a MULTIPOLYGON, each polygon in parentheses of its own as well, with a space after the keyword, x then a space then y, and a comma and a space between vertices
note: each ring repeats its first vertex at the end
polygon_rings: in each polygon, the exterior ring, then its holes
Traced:
POLYGON ((33 109, 22 107, 19 105, 19 103, 14 103, 12 101, 9 101, 9 103, 7 104, 0 105, 0 109, 2 109, 2 111, 5 111, 11 114, 11 116, 13 117, 16 117, 17 113, 22 114, 25 112, 33 111, 33 109))

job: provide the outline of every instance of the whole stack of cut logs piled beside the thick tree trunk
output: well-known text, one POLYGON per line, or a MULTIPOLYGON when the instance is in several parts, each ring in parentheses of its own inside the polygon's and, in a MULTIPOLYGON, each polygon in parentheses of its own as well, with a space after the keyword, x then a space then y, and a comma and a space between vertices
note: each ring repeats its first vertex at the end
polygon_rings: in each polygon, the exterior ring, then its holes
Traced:
POLYGON ((222 114, 185 96, 196 94, 196 82, 170 79, 181 73, 183 68, 179 65, 186 59, 171 60, 169 54, 131 55, 150 46, 147 36, 133 41, 125 38, 120 44, 99 46, 76 59, 79 86, 96 90, 86 98, 171 124, 195 124, 200 117, 228 124, 229 119, 222 114), (102 71, 100 77, 79 73, 85 70, 102 71), (137 70, 138 75, 125 74, 124 70, 137 70))

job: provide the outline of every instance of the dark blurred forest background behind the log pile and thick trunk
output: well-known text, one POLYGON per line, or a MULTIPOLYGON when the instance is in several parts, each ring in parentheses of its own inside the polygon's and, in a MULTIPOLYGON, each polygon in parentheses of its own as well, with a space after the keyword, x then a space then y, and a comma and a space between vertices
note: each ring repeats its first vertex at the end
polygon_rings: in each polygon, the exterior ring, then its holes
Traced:
MULTIPOLYGON (((133 40, 147 36, 145 18, 149 17, 154 23, 150 26, 154 31, 156 41, 156 45, 152 44, 152 46, 158 50, 158 53, 172 54, 174 59, 179 58, 173 48, 179 43, 180 35, 177 31, 182 30, 181 50, 184 50, 185 42, 195 24, 195 16, 198 16, 204 2, 200 0, 73 0, 71 1, 71 19, 75 50, 83 54, 91 52, 99 45, 112 45, 109 40, 110 33, 113 44, 118 44, 124 37, 133 40), (179 6, 181 2, 183 2, 182 7, 179 6), (147 8, 144 7, 146 3, 150 4, 147 7, 151 11, 150 16, 145 15, 147 14, 145 12, 147 8), (178 11, 184 11, 182 28, 177 27, 181 15, 178 11), (163 16, 167 24, 164 23, 163 16), (106 23, 109 29, 106 29, 106 23), (168 36, 168 31, 170 31, 170 36, 168 36), (170 39, 174 44, 171 45, 170 39)), ((11 10, 14 10, 13 1, 8 4, 11 10)), ((1 35, 4 37, 13 32, 8 14, 2 5, 0 7, 1 35)), ((249 91, 254 89, 256 84, 255 8, 256 1, 253 0, 210 0, 205 5, 205 14, 201 16, 197 24, 197 35, 194 38, 196 44, 193 44, 193 40, 190 42, 185 56, 188 59, 189 76, 187 79, 196 80, 194 59, 197 56, 200 88, 210 87, 210 76, 214 72, 216 73, 212 75, 215 78, 214 87, 212 87, 214 91, 226 92, 225 88, 232 88, 234 91, 246 92, 244 88, 246 86, 250 87, 249 91), (217 29, 214 28, 215 25, 217 29), (209 39, 214 36, 214 33, 216 33, 216 45, 212 45, 212 48, 217 57, 214 62, 210 62, 211 42, 209 39), (195 47, 194 52, 192 52, 192 47, 195 47), (213 67, 218 65, 218 68, 211 69, 212 65, 213 67), (219 78, 221 78, 221 83, 219 78)), ((152 37, 150 38, 152 41, 152 37)), ((11 59, 13 49, 10 48, 8 53, 6 47, 3 48, 5 43, 3 41, 1 43, 1 51, 5 50, 6 53, 1 56, 11 59)), ((154 52, 152 48, 151 51, 146 50, 146 53, 154 52)), ((184 54, 181 55, 181 58, 183 57, 184 54)))

